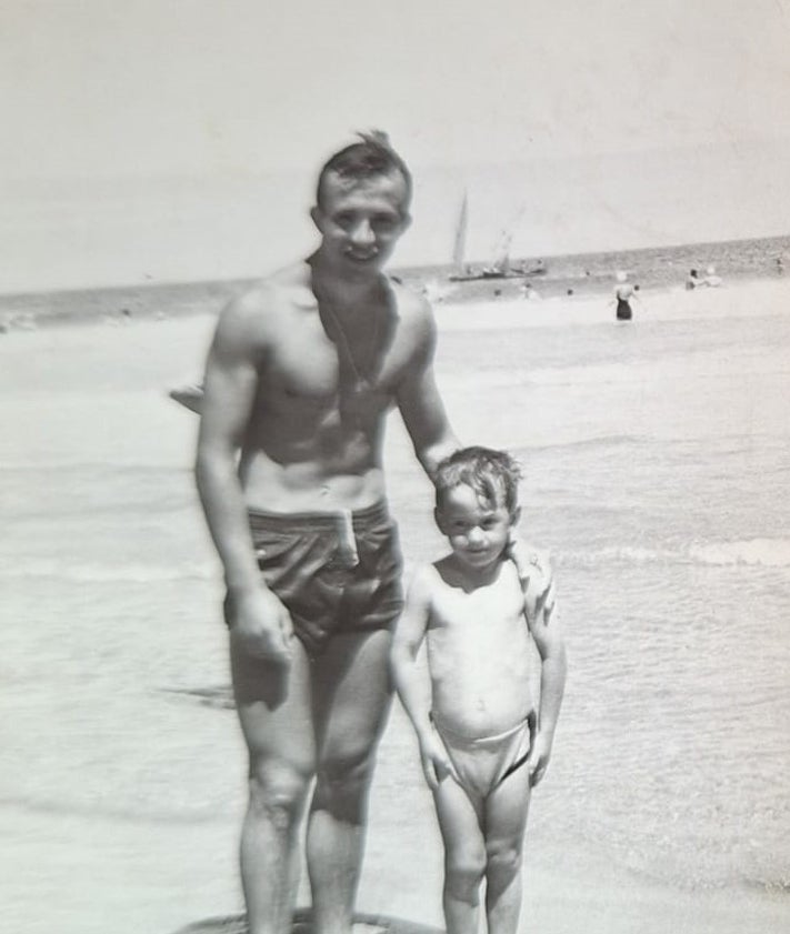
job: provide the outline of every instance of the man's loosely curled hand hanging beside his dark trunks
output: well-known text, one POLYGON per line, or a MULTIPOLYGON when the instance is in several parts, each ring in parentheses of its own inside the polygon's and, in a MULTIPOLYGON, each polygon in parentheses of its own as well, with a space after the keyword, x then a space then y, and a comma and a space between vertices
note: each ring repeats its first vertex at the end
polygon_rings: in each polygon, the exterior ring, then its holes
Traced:
POLYGON ((287 667, 291 663, 293 623, 279 599, 264 587, 256 587, 230 601, 230 637, 244 654, 268 659, 287 667))

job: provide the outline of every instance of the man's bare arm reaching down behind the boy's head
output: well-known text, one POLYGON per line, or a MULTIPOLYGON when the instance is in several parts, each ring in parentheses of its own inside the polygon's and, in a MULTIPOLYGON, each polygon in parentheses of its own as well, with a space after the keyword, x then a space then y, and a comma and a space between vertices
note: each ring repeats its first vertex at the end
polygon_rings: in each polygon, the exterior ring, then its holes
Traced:
POLYGON ((433 374, 436 328, 426 312, 419 347, 398 389, 397 401, 414 445, 417 460, 432 479, 440 461, 461 445, 456 438, 444 411, 433 374))

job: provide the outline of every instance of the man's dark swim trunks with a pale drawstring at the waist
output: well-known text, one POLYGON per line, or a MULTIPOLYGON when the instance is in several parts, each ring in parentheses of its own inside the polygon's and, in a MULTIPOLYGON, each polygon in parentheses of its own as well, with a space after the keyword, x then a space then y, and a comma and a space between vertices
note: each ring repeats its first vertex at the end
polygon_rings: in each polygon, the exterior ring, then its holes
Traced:
MULTIPOLYGON (((336 632, 389 629, 403 606, 398 529, 387 505, 351 512, 250 510, 261 576, 311 656, 336 632)), ((229 597, 226 599, 226 621, 229 597)))

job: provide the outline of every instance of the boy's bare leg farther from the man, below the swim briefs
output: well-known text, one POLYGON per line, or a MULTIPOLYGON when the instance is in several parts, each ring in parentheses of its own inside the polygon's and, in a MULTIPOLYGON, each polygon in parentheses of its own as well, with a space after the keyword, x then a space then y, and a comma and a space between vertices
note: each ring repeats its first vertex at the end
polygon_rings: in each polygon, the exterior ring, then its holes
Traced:
POLYGON ((524 763, 508 775, 486 801, 488 934, 516 934, 518 927, 529 797, 529 766, 524 763))

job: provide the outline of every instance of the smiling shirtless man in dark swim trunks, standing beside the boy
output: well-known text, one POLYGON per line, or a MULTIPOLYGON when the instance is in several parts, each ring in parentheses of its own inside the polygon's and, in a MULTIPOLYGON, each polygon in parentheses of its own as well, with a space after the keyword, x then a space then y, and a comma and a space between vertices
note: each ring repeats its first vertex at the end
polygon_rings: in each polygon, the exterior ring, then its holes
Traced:
POLYGON ((434 329, 382 268, 410 222, 411 178, 384 137, 323 167, 317 252, 232 301, 209 352, 196 475, 224 568, 249 749, 241 878, 251 934, 290 931, 308 789, 318 934, 348 934, 401 609, 384 502, 397 405, 431 474, 458 448, 433 379, 434 329))

